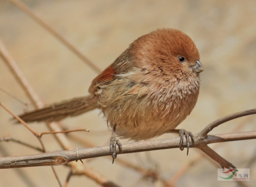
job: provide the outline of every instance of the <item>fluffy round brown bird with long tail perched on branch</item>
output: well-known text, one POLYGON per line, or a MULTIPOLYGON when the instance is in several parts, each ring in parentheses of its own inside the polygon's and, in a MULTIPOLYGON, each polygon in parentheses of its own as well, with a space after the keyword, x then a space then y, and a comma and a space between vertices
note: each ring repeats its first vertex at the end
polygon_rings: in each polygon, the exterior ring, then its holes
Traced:
MULTIPOLYGON (((173 130, 194 108, 203 65, 191 38, 176 29, 158 29, 135 40, 113 64, 92 80, 90 95, 20 115, 25 122, 59 121, 100 108, 113 128, 110 154, 116 158, 115 133, 142 140, 173 130)), ((180 131, 182 148, 183 136, 180 131)))

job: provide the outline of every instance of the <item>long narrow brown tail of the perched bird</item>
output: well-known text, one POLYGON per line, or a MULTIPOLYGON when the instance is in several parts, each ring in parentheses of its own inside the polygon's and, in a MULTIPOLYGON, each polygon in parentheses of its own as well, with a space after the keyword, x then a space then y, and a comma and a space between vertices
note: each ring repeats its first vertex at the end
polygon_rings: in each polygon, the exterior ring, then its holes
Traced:
POLYGON ((98 108, 97 100, 92 95, 88 95, 54 103, 53 105, 21 114, 19 117, 25 122, 53 122, 68 116, 77 116, 95 108, 98 108))

